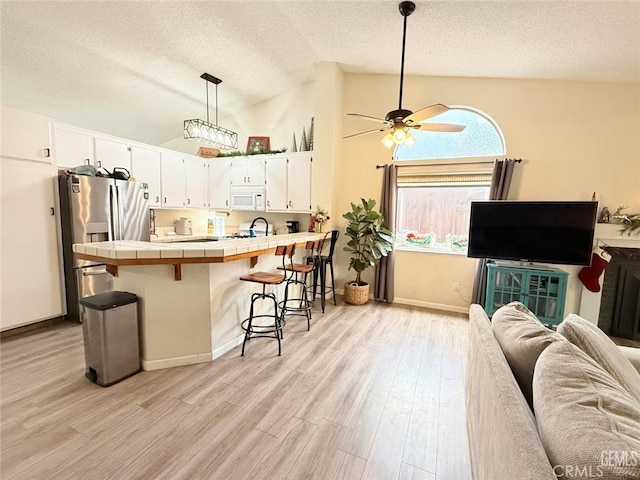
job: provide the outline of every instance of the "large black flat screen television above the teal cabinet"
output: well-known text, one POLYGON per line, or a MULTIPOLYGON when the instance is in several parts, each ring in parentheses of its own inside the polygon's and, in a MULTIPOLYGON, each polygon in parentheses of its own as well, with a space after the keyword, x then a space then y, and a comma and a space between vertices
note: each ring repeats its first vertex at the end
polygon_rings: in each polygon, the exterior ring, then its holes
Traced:
POLYGON ((467 256, 589 265, 598 202, 471 202, 467 256))

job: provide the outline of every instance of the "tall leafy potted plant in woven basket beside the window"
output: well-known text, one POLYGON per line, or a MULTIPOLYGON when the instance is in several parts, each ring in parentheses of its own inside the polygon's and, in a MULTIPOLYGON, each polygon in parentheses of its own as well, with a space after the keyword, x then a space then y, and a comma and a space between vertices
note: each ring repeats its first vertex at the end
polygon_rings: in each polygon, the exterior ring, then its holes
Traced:
POLYGON ((349 222, 346 231, 349 241, 344 250, 351 254, 349 270, 356 271, 356 279, 344 286, 345 300, 352 305, 364 305, 369 300, 369 284, 360 278, 362 272, 375 267, 393 250, 392 233, 382 225, 382 214, 373 209, 376 201, 362 198, 361 202, 361 205, 351 203, 351 211, 342 215, 349 222))

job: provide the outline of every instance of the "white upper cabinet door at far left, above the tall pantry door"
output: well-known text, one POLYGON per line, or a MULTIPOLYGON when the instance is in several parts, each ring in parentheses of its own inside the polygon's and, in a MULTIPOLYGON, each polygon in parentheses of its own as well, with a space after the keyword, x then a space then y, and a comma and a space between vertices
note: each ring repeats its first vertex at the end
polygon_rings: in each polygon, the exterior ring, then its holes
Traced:
POLYGON ((0 119, 0 156, 53 164, 52 118, 0 105, 0 119))

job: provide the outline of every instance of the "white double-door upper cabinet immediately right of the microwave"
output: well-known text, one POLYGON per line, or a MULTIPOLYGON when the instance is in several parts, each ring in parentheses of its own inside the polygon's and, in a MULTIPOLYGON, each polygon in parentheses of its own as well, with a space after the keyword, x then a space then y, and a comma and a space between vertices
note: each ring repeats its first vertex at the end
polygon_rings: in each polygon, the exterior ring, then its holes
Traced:
POLYGON ((311 163, 309 152, 267 159, 268 211, 311 211, 311 163))

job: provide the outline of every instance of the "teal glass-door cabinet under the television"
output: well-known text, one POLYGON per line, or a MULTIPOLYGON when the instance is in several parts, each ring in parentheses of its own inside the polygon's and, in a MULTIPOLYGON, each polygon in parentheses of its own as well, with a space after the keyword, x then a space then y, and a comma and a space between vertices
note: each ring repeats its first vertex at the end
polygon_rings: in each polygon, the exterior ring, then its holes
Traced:
POLYGON ((567 275, 553 267, 488 263, 485 311, 492 316, 501 306, 519 301, 545 325, 558 325, 564 315, 567 275))

